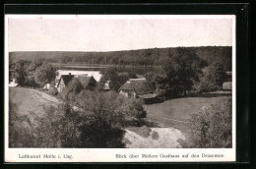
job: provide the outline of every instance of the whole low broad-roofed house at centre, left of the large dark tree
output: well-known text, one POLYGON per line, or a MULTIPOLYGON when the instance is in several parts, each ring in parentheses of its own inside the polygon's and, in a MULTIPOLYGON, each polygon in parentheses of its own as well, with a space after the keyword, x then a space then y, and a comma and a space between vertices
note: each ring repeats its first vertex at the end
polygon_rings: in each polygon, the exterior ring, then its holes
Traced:
POLYGON ((130 79, 120 87, 119 93, 126 97, 139 97, 146 102, 153 102, 158 96, 154 93, 152 84, 149 84, 146 79, 130 79))

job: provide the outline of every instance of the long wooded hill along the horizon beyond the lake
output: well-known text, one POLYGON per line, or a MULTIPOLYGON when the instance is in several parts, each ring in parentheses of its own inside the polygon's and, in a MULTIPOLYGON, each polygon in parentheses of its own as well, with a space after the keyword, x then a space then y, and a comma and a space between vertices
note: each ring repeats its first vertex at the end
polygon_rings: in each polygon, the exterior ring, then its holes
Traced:
MULTIPOLYGON (((232 48, 230 46, 185 47, 209 64, 221 61, 226 71, 231 71, 232 48)), ((70 51, 28 51, 10 52, 10 62, 19 60, 31 61, 35 58, 48 63, 65 64, 101 64, 101 65, 133 65, 158 66, 168 56, 177 53, 177 47, 151 48, 139 50, 111 52, 70 52, 70 51)))

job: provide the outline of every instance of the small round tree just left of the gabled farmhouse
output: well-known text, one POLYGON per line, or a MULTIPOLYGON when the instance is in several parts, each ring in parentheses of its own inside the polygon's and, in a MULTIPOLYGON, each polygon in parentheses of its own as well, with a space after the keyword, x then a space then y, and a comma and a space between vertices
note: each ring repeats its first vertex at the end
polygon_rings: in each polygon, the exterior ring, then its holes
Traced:
POLYGON ((36 84, 43 86, 44 84, 53 82, 56 76, 57 71, 52 65, 43 64, 36 68, 34 72, 34 81, 36 84))

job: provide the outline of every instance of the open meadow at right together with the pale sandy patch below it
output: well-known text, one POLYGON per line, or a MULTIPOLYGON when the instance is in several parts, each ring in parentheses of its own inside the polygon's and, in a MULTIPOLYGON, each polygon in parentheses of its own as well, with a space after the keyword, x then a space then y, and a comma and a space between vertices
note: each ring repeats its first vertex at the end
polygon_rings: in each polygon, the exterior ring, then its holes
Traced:
POLYGON ((146 126, 128 127, 125 134, 127 147, 178 148, 180 141, 190 141, 190 114, 205 105, 225 102, 229 96, 197 96, 166 100, 144 105, 146 126))

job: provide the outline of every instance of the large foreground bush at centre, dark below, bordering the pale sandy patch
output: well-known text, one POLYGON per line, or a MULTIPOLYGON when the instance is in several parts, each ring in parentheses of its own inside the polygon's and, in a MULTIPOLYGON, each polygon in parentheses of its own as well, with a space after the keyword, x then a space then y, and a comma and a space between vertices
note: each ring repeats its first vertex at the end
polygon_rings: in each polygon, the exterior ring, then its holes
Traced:
POLYGON ((82 90, 76 97, 84 147, 123 147, 124 117, 146 117, 142 101, 114 91, 82 90))

